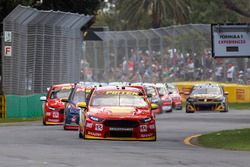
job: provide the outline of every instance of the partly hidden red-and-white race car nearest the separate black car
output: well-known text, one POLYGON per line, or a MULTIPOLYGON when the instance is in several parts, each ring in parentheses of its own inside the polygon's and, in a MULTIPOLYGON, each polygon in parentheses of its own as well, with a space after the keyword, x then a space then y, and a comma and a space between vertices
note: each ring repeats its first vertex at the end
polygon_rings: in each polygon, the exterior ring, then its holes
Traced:
POLYGON ((172 99, 172 108, 176 110, 182 110, 182 100, 181 100, 181 93, 178 88, 172 83, 165 84, 169 95, 172 99))

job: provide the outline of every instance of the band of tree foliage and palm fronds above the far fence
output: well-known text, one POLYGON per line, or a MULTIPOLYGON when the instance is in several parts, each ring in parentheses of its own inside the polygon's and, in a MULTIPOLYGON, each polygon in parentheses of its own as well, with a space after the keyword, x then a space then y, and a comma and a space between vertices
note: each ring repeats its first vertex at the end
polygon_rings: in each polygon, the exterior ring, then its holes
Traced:
POLYGON ((109 0, 96 25, 134 30, 187 23, 250 22, 250 0, 109 0))

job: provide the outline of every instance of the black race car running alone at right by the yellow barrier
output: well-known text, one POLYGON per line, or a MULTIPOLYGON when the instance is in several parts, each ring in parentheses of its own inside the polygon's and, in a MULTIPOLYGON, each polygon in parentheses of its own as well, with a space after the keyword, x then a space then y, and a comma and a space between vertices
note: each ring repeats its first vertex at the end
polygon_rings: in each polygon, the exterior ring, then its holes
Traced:
MULTIPOLYGON (((188 95, 189 93, 185 93, 188 95)), ((228 112, 227 96, 218 84, 194 85, 186 100, 186 113, 196 111, 228 112)))

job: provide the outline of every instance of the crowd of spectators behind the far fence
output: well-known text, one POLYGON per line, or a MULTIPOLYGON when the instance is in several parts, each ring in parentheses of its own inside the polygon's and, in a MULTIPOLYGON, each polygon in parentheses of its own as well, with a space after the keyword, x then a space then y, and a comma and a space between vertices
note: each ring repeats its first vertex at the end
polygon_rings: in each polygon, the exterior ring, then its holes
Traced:
MULTIPOLYGON (((119 63, 120 62, 120 63, 119 63)), ((108 69, 95 69, 82 62, 84 81, 175 82, 211 80, 250 84, 250 67, 242 68, 232 59, 214 59, 205 49, 201 55, 183 54, 176 49, 161 55, 156 51, 131 49, 117 67, 111 62, 108 69)))

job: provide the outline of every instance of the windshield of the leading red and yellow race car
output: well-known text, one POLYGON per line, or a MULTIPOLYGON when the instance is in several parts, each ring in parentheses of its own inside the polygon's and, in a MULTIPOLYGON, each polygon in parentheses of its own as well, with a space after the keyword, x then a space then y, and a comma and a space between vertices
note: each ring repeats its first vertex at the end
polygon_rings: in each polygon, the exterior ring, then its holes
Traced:
POLYGON ((91 106, 133 106, 147 107, 143 96, 128 94, 95 94, 91 106))

